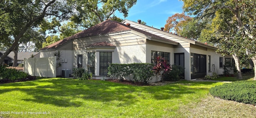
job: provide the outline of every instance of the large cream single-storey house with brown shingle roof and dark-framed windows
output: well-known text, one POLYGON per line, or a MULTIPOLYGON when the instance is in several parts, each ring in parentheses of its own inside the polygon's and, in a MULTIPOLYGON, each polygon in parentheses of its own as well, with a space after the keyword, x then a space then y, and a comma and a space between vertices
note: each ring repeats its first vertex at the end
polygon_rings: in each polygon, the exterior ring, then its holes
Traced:
POLYGON ((101 79, 108 73, 108 63, 154 63, 162 56, 170 64, 185 67, 184 79, 191 80, 222 74, 224 59, 231 61, 231 57, 222 57, 216 49, 140 22, 106 20, 40 49, 40 57, 61 51, 61 69, 83 67, 101 79))

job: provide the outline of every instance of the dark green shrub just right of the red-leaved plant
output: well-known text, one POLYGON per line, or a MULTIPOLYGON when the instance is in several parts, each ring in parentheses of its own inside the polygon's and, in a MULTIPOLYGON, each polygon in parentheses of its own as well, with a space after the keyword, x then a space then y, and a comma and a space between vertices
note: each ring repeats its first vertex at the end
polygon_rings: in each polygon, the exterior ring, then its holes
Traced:
POLYGON ((182 79, 184 68, 179 65, 172 65, 170 71, 163 73, 164 81, 178 81, 182 79))

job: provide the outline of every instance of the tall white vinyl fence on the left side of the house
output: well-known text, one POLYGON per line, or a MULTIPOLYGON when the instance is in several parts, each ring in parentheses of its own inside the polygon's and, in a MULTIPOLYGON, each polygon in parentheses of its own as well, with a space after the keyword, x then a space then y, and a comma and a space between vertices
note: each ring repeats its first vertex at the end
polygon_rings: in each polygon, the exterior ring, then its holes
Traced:
POLYGON ((37 77, 56 77, 56 56, 25 58, 24 72, 37 77))

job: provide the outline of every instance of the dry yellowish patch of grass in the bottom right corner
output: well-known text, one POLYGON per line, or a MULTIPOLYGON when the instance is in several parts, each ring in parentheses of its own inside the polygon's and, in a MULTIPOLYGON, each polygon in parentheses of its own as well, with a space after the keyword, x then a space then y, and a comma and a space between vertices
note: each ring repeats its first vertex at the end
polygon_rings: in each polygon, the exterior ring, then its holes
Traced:
POLYGON ((255 118, 256 106, 223 100, 209 94, 198 103, 181 106, 179 112, 184 118, 255 118))

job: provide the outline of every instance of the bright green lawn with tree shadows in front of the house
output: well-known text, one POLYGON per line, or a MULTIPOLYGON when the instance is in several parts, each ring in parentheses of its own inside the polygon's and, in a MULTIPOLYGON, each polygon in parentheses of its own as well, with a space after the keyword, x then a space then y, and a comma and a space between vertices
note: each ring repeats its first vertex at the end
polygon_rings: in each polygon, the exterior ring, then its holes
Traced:
POLYGON ((222 83, 180 81, 164 86, 131 86, 109 81, 40 79, 0 85, 4 117, 179 117, 181 106, 200 102, 222 83), (27 114, 14 114, 24 112, 27 114), (42 112, 47 114, 31 114, 42 112), (28 114, 30 113, 30 114, 28 114))

